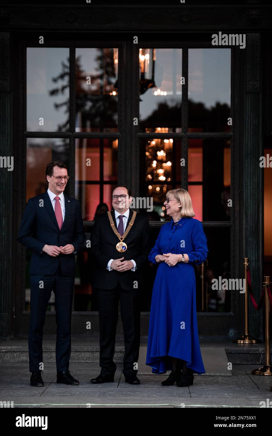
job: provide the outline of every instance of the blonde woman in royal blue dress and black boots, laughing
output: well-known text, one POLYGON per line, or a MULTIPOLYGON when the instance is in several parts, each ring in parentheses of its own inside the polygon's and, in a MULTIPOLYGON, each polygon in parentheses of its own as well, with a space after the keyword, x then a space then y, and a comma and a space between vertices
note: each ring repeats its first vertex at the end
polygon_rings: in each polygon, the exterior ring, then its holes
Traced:
POLYGON ((152 373, 172 370, 163 386, 193 385, 193 373, 205 368, 196 318, 193 265, 207 258, 207 238, 185 189, 168 191, 164 206, 170 222, 162 225, 148 259, 159 263, 154 281, 146 364, 152 373))

